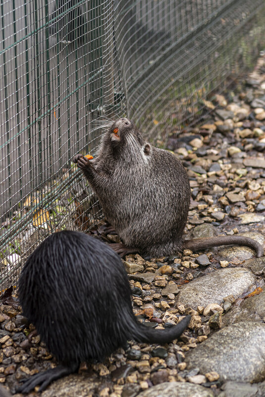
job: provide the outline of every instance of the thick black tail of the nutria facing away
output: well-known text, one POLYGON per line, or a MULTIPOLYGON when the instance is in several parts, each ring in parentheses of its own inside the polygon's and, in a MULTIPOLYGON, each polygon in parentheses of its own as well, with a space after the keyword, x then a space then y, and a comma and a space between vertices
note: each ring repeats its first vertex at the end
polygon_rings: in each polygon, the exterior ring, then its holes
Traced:
POLYGON ((154 330, 143 324, 135 323, 135 326, 131 330, 131 337, 137 342, 145 343, 169 343, 172 340, 178 338, 183 331, 188 327, 191 316, 184 317, 177 325, 170 327, 166 330, 154 330))

